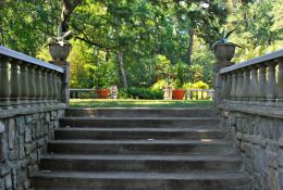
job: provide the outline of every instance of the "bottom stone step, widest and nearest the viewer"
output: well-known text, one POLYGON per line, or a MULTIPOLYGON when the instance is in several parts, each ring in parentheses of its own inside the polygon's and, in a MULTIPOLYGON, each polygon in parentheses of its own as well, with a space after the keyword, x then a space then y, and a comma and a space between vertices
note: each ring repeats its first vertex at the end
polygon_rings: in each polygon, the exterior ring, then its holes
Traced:
POLYGON ((35 190, 250 190, 241 173, 45 173, 34 176, 35 190))

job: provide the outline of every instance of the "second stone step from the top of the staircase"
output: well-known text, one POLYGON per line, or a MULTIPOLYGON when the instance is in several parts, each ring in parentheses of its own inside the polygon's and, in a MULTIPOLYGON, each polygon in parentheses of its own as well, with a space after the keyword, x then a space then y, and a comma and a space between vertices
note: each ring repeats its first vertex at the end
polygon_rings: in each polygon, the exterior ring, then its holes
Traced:
POLYGON ((63 117, 60 126, 65 127, 207 127, 220 126, 218 117, 63 117))

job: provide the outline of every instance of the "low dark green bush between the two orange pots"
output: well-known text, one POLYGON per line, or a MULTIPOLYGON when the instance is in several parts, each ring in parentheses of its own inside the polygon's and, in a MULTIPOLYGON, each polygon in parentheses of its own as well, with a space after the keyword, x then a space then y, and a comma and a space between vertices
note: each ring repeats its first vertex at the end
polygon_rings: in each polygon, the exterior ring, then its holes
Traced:
POLYGON ((135 88, 131 87, 119 90, 120 98, 146 99, 146 100, 162 100, 163 90, 155 90, 150 88, 135 88))

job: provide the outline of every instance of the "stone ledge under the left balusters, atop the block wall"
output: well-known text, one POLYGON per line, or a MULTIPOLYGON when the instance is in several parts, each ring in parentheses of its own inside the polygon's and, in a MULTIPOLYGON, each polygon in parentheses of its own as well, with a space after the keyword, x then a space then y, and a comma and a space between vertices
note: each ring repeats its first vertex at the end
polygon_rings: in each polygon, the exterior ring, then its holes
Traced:
POLYGON ((16 115, 34 114, 34 113, 65 110, 65 109, 66 105, 64 103, 57 103, 57 104, 49 104, 49 105, 35 105, 29 107, 14 107, 8 110, 0 110, 0 118, 8 118, 16 115))

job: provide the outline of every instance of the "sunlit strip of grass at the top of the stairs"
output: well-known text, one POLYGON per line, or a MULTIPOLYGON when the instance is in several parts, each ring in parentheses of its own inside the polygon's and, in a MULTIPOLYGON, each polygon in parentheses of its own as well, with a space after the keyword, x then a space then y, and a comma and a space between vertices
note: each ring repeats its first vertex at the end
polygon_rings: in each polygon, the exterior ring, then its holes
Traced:
POLYGON ((71 107, 209 107, 211 100, 71 99, 71 107))

